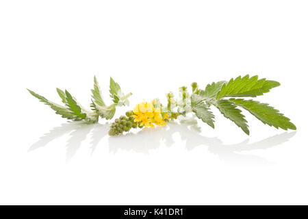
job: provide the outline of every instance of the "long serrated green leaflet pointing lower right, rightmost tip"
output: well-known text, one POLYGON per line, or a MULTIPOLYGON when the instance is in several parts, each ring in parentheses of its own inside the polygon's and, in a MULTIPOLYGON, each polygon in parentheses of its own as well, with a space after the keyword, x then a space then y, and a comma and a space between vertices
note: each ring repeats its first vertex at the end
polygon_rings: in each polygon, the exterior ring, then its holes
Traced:
POLYGON ((230 99, 229 101, 248 110, 253 116, 261 120, 262 123, 281 129, 296 130, 296 126, 290 122, 290 118, 283 116, 279 110, 268 105, 268 103, 260 103, 259 101, 244 100, 244 99, 230 99))

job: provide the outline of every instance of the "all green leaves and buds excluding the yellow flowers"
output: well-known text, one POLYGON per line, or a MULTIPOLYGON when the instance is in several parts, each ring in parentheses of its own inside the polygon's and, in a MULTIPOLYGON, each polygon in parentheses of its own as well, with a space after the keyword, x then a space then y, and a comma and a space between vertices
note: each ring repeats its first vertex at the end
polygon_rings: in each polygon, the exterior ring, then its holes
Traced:
MULTIPOLYGON (((291 123, 290 118, 285 117, 279 110, 274 109, 268 103, 259 103, 254 100, 235 99, 233 97, 256 97, 269 92, 270 89, 279 86, 277 81, 270 81, 267 79, 258 79, 258 76, 237 77, 227 81, 218 81, 210 83, 205 87, 205 90, 198 88, 198 83, 194 82, 192 86, 192 94, 188 92, 187 87, 180 88, 179 99, 175 100, 172 92, 167 94, 168 105, 163 106, 158 99, 155 99, 155 108, 159 107, 162 110, 162 116, 168 114, 164 120, 174 120, 178 116, 185 116, 193 112, 197 118, 200 118, 204 123, 214 128, 214 114, 211 112, 210 107, 214 105, 226 118, 229 118, 235 125, 238 125, 246 134, 249 134, 247 121, 242 111, 238 108, 241 107, 247 110, 262 123, 272 127, 281 129, 296 129, 296 126, 291 123)), ((35 92, 29 90, 30 94, 39 99, 42 103, 49 105, 51 109, 55 110, 56 114, 60 114, 63 118, 70 120, 85 120, 90 123, 97 123, 99 116, 110 120, 114 117, 116 106, 128 105, 127 98, 129 94, 123 94, 118 83, 110 77, 110 96, 112 97, 112 104, 106 105, 103 101, 101 89, 97 78, 94 77, 94 88, 91 90, 92 99, 90 107, 92 111, 86 110, 82 107, 76 99, 67 90, 63 91, 57 88, 57 94, 60 96, 64 106, 53 103, 44 96, 40 96, 35 92)), ((129 120, 121 120, 112 125, 110 134, 117 135, 131 128, 138 127, 138 124, 133 123, 132 112, 127 112, 129 120)))

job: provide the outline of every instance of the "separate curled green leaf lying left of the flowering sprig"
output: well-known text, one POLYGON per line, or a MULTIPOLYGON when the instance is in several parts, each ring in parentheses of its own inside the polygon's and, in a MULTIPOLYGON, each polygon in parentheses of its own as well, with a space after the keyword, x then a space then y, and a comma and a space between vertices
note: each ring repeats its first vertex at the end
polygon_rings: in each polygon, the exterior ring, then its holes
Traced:
POLYGON ((116 112, 116 106, 129 105, 129 101, 127 100, 131 93, 123 94, 118 83, 110 77, 110 97, 112 97, 111 105, 105 105, 103 98, 101 96, 101 90, 99 88, 99 83, 97 82, 96 77, 94 77, 94 89, 92 91, 92 103, 91 108, 92 111, 86 110, 79 103, 77 103, 76 99, 67 91, 60 90, 57 88, 57 94, 59 94, 62 102, 65 106, 59 105, 57 103, 53 103, 44 96, 40 96, 35 92, 29 90, 29 92, 39 99, 41 102, 49 105, 51 109, 55 110, 56 114, 60 114, 63 118, 68 118, 70 120, 86 120, 90 123, 97 123, 99 120, 99 116, 105 119, 111 119, 114 117, 116 112))

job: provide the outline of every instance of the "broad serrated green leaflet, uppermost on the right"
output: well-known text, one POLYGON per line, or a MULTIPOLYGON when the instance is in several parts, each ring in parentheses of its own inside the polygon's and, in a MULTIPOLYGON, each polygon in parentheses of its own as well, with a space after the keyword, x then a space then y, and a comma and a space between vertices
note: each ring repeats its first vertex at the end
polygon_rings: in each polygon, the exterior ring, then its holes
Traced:
POLYGON ((216 99, 220 99, 224 96, 260 96, 266 92, 269 92, 271 88, 280 86, 277 81, 269 81, 266 79, 259 79, 258 76, 249 77, 237 77, 231 79, 227 84, 224 84, 218 92, 216 99))

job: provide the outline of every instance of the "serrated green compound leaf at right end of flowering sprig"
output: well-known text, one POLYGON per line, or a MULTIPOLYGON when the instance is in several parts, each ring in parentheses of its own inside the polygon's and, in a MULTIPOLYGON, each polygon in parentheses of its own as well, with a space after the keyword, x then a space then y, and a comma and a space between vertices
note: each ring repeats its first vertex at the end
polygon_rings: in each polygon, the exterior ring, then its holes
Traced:
MULTIPOLYGON (((237 77, 231 79, 229 82, 219 81, 217 83, 208 84, 205 90, 201 90, 198 95, 192 94, 192 112, 203 122, 209 124, 213 123, 211 114, 209 114, 209 107, 215 105, 224 117, 232 120, 238 127, 240 127, 246 134, 249 134, 247 121, 238 107, 248 110, 253 116, 261 120, 262 123, 281 129, 296 129, 296 126, 290 122, 290 119, 275 110, 274 107, 267 103, 259 103, 253 100, 244 99, 224 99, 233 96, 260 96, 269 92, 271 88, 279 86, 277 81, 270 81, 266 79, 258 79, 258 76, 237 77), (201 104, 204 103, 205 105, 201 104), (196 110, 198 108, 198 110, 196 110)), ((214 123, 213 123, 214 127, 214 123)))

